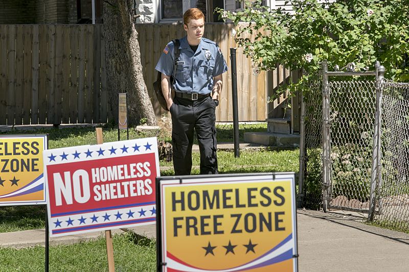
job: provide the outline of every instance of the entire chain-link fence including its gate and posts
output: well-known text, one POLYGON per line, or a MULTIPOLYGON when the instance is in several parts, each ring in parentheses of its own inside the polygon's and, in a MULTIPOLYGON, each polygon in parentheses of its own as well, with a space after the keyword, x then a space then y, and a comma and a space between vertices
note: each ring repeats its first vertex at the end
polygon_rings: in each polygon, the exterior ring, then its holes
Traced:
POLYGON ((303 207, 368 212, 407 231, 409 84, 383 80, 380 70, 324 69, 312 77, 301 117, 299 195, 303 207))

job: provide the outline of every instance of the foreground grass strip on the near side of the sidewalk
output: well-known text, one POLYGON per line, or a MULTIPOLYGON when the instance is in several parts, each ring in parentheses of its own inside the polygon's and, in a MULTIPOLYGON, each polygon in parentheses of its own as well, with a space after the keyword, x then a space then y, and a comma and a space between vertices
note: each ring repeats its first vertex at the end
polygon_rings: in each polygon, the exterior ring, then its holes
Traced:
MULTIPOLYGON (((44 271, 44 254, 43 246, 0 249, 0 271, 44 271)), ((113 255, 115 270, 118 272, 155 271, 156 246, 152 240, 141 243, 128 233, 114 235, 113 255)), ((50 271, 108 271, 105 237, 52 246, 49 258, 50 271)))

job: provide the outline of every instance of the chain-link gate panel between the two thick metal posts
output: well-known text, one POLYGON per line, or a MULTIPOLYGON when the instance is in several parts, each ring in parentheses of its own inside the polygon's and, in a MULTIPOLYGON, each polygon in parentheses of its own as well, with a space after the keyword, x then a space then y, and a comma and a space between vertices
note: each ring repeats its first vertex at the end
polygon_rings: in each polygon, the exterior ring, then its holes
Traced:
POLYGON ((328 208, 368 210, 375 81, 336 80, 330 78, 328 86, 331 136, 328 208))

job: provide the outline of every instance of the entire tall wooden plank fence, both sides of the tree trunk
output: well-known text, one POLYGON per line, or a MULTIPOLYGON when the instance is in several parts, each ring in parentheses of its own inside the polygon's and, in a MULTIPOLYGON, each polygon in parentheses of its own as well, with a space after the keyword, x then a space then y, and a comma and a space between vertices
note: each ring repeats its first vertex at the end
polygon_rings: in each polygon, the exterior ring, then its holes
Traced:
MULTIPOLYGON (((160 117, 165 112, 153 94, 154 68, 165 45, 183 37, 185 31, 181 24, 135 26, 145 83, 160 117)), ((229 67, 223 74, 217 121, 233 120, 230 48, 236 47, 231 35, 234 28, 232 23, 207 23, 205 28, 205 37, 218 43, 229 67)), ((250 34, 248 38, 252 38, 250 34)), ((0 25, 0 125, 106 122, 104 42, 101 24, 0 25)), ((239 120, 272 117, 271 112, 276 112, 286 97, 268 104, 267 96, 288 76, 283 66, 274 73, 255 73, 251 60, 238 48, 239 120)))

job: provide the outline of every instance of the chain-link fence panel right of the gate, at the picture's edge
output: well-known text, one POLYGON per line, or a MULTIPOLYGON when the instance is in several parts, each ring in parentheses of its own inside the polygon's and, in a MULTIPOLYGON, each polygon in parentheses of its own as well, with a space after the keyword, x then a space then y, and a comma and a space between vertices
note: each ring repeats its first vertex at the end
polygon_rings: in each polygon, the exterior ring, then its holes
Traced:
POLYGON ((381 83, 381 225, 409 230, 409 83, 381 83))

